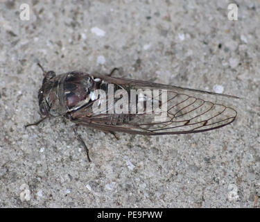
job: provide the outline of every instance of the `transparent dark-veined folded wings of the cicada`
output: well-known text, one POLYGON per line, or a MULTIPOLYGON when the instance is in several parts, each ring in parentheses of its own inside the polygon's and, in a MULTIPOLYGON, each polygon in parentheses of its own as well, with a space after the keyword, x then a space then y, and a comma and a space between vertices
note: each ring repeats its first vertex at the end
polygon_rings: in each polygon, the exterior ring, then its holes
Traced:
MULTIPOLYGON (((207 130, 214 130, 232 123, 237 116, 234 108, 225 105, 225 103, 218 103, 218 101, 223 101, 219 98, 225 98, 225 101, 237 99, 238 97, 236 96, 124 78, 107 76, 96 76, 96 78, 101 78, 105 83, 111 83, 121 89, 125 89, 128 93, 130 93, 130 89, 141 89, 143 91, 147 89, 159 89, 161 93, 157 99, 150 95, 145 95, 144 99, 143 96, 144 113, 142 114, 132 114, 130 112, 127 114, 109 114, 109 106, 106 106, 107 109, 104 112, 95 114, 92 110, 94 103, 92 101, 84 108, 71 113, 71 120, 75 123, 112 132, 166 135, 200 133, 207 130), (162 99, 162 89, 167 92, 166 99, 162 99), (151 99, 153 99, 153 104, 159 104, 159 108, 166 107, 164 115, 155 112, 155 110, 146 113, 148 101, 151 99)), ((136 103, 139 102, 138 99, 136 103)), ((114 103, 118 100, 114 99, 114 103)), ((130 106, 129 101, 129 111, 130 106)))

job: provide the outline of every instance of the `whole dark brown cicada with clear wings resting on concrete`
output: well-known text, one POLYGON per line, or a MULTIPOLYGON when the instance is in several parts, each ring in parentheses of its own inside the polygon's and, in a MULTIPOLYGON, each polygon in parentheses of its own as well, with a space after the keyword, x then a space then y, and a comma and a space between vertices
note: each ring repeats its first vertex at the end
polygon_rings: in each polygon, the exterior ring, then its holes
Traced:
MULTIPOLYGON (((88 126, 112 133, 139 135, 171 135, 201 133, 232 123, 237 112, 223 103, 202 99, 216 94, 198 89, 150 83, 142 80, 87 74, 71 71, 56 76, 43 71, 44 79, 38 92, 42 119, 64 117, 76 125, 88 126)), ((83 144, 89 162, 89 150, 83 144)), ((117 137, 116 137, 117 138, 117 137)))

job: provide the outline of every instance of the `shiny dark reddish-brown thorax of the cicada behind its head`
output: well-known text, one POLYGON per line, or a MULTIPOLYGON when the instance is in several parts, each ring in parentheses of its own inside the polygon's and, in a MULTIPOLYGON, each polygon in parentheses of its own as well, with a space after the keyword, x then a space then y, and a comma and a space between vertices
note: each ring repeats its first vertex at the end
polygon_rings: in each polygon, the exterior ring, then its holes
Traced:
POLYGON ((78 71, 56 76, 45 87, 50 114, 60 116, 80 110, 94 101, 94 90, 104 85, 101 79, 78 71))

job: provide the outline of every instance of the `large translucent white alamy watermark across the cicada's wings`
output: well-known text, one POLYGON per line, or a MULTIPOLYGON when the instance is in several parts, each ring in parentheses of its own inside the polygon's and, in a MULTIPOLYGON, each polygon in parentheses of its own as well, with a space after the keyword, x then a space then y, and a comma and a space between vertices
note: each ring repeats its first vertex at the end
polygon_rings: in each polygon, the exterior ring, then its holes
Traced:
POLYGON ((107 93, 102 89, 91 92, 94 114, 155 114, 154 121, 166 121, 166 89, 117 89, 109 84, 107 93))

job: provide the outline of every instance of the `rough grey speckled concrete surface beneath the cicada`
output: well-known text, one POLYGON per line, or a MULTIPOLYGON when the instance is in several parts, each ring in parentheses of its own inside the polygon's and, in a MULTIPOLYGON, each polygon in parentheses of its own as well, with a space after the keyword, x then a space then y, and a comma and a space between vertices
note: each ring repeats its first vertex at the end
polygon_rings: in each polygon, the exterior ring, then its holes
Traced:
POLYGON ((0 207, 259 207, 259 1, 0 1, 0 207), (21 3, 31 9, 19 17, 21 3), (110 72, 241 96, 232 125, 146 137, 40 118, 42 71, 110 72))

